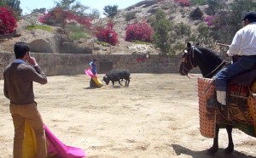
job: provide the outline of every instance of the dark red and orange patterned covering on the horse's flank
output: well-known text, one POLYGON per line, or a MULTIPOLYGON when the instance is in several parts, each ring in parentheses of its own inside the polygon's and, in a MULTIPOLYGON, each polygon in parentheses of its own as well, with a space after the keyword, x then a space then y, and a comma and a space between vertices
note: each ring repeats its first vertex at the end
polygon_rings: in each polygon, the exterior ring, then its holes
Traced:
POLYGON ((230 120, 236 127, 253 137, 256 136, 256 69, 243 72, 230 79, 227 104, 230 120))

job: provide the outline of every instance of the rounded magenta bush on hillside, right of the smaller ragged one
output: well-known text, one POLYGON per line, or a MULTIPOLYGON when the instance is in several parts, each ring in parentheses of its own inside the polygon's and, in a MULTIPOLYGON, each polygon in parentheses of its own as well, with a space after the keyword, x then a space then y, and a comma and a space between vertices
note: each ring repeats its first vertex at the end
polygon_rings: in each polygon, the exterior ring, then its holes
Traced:
POLYGON ((153 36, 153 29, 148 23, 134 23, 127 26, 125 31, 125 41, 143 41, 151 42, 153 36))

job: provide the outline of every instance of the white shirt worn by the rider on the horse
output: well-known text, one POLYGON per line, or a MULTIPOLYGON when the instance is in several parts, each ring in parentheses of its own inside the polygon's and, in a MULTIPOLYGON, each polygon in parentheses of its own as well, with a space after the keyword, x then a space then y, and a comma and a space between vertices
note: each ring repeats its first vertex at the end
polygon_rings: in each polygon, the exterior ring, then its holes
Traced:
POLYGON ((256 55, 256 22, 250 23, 236 32, 227 54, 256 55))

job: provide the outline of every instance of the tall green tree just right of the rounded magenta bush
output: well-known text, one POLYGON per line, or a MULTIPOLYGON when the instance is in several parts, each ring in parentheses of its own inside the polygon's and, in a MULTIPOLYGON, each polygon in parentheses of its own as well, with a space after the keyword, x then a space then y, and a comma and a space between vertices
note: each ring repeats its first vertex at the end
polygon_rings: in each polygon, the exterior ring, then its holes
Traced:
POLYGON ((172 23, 166 19, 165 12, 157 10, 151 25, 154 28, 154 45, 156 48, 160 48, 161 54, 166 55, 171 49, 172 23))

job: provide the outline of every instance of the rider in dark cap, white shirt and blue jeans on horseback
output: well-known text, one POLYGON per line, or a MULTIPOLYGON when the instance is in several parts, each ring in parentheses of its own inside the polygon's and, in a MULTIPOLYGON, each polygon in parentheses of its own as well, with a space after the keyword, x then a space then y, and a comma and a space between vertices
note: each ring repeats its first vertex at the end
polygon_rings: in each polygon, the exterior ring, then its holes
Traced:
POLYGON ((219 71, 215 76, 217 100, 222 107, 226 105, 228 80, 232 76, 252 69, 256 63, 256 12, 248 12, 242 20, 244 27, 236 32, 227 52, 228 56, 238 55, 240 59, 219 71))

